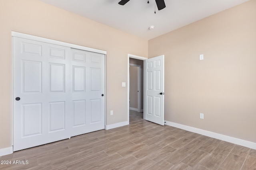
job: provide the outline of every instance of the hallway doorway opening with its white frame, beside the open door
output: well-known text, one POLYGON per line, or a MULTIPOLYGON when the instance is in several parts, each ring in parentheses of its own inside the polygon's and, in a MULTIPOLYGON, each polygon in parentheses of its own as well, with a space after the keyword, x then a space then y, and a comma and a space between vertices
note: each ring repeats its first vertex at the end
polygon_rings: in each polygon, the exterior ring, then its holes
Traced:
POLYGON ((141 113, 144 110, 144 60, 146 59, 145 57, 128 54, 128 122, 130 111, 141 113))

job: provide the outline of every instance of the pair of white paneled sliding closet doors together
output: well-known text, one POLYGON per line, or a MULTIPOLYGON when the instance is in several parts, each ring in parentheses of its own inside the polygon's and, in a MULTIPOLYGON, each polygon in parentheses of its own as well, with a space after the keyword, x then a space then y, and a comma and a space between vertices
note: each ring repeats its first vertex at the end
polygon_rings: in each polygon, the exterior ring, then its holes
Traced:
POLYGON ((13 150, 105 126, 105 55, 13 37, 13 150))

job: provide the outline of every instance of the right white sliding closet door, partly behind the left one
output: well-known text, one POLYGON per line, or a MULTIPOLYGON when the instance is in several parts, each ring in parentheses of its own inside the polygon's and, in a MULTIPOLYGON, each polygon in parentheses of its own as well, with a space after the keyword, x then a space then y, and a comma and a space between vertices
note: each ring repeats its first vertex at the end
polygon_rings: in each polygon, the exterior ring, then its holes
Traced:
POLYGON ((105 55, 72 49, 72 134, 105 128, 105 55))

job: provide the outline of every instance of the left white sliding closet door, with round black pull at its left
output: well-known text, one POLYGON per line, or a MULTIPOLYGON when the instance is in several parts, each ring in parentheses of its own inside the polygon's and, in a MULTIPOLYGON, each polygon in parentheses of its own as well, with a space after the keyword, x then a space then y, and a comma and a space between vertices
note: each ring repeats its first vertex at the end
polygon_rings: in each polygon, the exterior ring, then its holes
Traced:
POLYGON ((69 53, 13 38, 14 151, 70 137, 69 53))

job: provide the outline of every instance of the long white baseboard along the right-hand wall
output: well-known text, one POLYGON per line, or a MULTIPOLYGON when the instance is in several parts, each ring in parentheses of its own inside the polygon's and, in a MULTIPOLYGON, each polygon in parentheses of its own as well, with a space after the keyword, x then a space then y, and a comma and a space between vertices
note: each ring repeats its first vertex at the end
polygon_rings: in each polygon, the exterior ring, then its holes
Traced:
POLYGON ((182 124, 178 124, 178 123, 173 123, 173 122, 170 122, 170 121, 165 121, 165 122, 166 122, 166 123, 164 123, 165 125, 169 125, 169 126, 172 126, 172 127, 177 127, 179 129, 183 129, 183 130, 186 130, 186 131, 198 133, 198 134, 208 136, 208 137, 212 137, 212 138, 215 138, 215 139, 220 139, 222 141, 234 143, 236 145, 241 145, 243 147, 256 149, 256 143, 253 143, 253 142, 250 142, 250 141, 245 141, 245 140, 242 140, 242 139, 237 139, 237 138, 226 136, 226 135, 221 135, 219 133, 214 133, 214 132, 206 131, 206 130, 203 130, 203 129, 198 129, 198 128, 195 128, 195 127, 190 127, 190 126, 186 126, 186 125, 182 125, 182 124))

